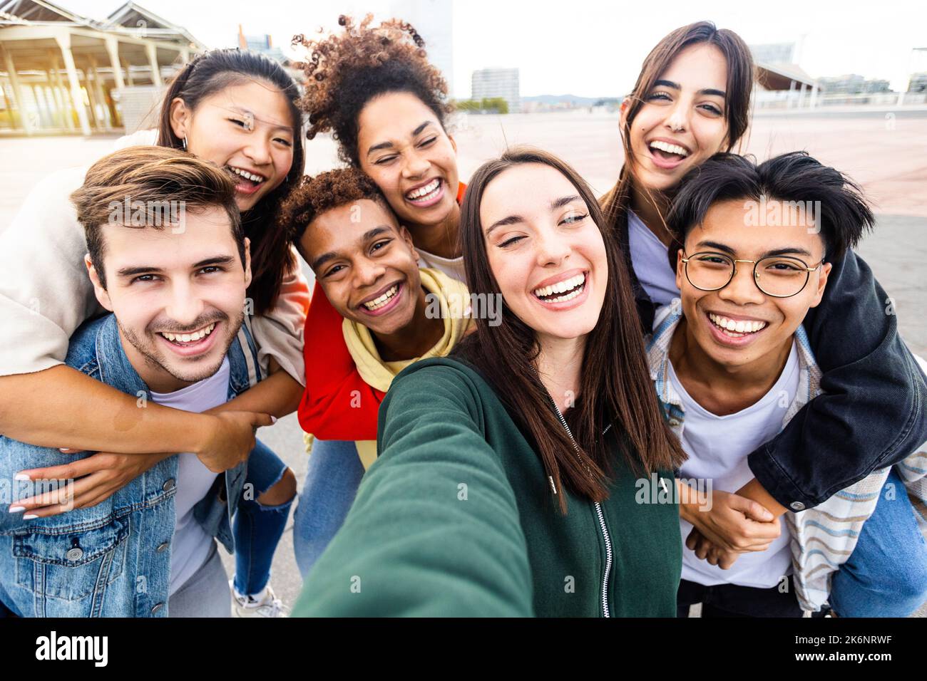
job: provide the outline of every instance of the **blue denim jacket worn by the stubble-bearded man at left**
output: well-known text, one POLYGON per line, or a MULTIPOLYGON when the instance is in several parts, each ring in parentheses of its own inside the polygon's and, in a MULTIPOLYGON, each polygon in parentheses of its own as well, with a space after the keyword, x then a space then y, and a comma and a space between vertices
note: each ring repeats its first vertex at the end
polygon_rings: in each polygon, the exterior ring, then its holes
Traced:
MULTIPOLYGON (((231 399, 260 381, 258 350, 247 317, 228 359, 231 399)), ((112 314, 83 323, 70 338, 65 363, 137 397, 139 409, 151 398, 122 349, 112 314)), ((115 413, 113 428, 132 420, 132 414, 115 413)), ((0 436, 0 602, 28 617, 166 616, 177 456, 160 461, 92 508, 28 521, 21 512, 6 512, 11 501, 42 491, 35 483, 15 481, 16 473, 87 456, 90 453, 62 454, 0 436)), ((231 520, 246 465, 242 462, 217 475, 210 492, 194 507, 197 522, 230 551, 231 520)))

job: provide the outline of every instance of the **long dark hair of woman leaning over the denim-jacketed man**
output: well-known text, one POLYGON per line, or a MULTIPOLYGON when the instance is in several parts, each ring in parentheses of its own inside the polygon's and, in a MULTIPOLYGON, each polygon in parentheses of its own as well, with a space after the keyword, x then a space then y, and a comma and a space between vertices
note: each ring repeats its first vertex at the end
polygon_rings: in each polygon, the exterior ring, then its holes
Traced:
POLYGON ((257 206, 242 215, 245 235, 251 241, 251 285, 248 297, 254 301, 254 313, 273 309, 284 277, 296 266, 289 248, 286 228, 277 221, 280 205, 302 176, 305 157, 302 144, 302 115, 297 107, 299 91, 286 70, 270 57, 248 50, 220 49, 205 52, 181 69, 164 95, 158 126, 158 145, 183 149, 184 143, 171 127, 171 102, 177 97, 191 111, 203 98, 227 87, 261 81, 273 85, 286 98, 293 120, 293 165, 286 179, 257 206))

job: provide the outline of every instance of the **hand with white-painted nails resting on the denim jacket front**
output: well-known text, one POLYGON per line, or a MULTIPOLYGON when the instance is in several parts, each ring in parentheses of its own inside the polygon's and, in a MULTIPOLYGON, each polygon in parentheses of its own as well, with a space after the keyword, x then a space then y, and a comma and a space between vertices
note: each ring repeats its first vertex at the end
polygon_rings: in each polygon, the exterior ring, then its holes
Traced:
MULTIPOLYGON (((61 449, 72 454, 78 449, 61 449)), ((20 473, 30 480, 67 480, 68 485, 49 490, 37 497, 14 501, 10 506, 22 507, 24 515, 47 518, 71 511, 89 509, 110 498, 136 477, 167 459, 171 454, 113 454, 98 452, 86 459, 73 460, 60 466, 33 468, 20 473)))

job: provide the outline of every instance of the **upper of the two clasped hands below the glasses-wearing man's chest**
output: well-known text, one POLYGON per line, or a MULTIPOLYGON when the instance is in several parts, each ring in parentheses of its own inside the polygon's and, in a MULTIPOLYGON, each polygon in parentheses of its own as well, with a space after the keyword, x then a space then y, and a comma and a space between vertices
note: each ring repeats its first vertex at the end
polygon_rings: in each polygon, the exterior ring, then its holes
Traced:
POLYGON ((764 551, 782 532, 778 519, 762 504, 720 490, 712 493, 708 510, 690 503, 680 513, 709 542, 727 551, 764 551))

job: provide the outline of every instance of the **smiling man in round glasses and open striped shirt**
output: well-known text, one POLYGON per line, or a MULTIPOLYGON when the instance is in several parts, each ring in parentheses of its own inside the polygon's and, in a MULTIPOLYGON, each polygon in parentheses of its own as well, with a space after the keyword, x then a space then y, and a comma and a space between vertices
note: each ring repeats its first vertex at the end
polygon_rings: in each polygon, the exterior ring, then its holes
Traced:
POLYGON ((657 314, 648 352, 689 455, 680 477, 715 490, 702 508, 679 505, 681 616, 698 602, 709 617, 800 616, 827 600, 841 616, 905 616, 927 599, 927 551, 905 493, 920 494, 913 461, 801 513, 786 513, 747 461, 826 389, 802 322, 839 285, 832 261, 872 221, 857 185, 804 152, 758 166, 717 155, 680 185, 667 223, 683 245, 681 297, 657 314))

